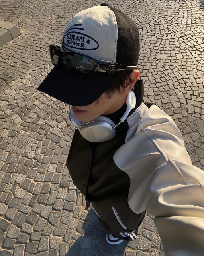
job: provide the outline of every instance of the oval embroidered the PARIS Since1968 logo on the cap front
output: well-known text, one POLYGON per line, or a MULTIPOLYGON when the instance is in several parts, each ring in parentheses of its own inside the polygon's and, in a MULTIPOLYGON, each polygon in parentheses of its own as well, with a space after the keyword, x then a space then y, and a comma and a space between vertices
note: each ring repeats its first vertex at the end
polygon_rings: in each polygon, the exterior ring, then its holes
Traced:
POLYGON ((98 49, 99 44, 91 36, 78 31, 68 30, 63 38, 62 47, 64 50, 70 50, 69 48, 80 50, 96 50, 98 49))

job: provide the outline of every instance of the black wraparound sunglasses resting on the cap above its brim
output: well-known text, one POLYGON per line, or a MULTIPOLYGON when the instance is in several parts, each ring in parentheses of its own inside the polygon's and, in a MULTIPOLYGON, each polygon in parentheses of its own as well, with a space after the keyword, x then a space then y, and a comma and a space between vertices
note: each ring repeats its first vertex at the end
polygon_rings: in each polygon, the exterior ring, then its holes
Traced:
POLYGON ((78 52, 61 52, 60 47, 53 44, 49 46, 49 53, 54 66, 66 64, 70 71, 79 74, 94 74, 98 71, 114 73, 137 68, 137 66, 126 66, 112 61, 99 60, 78 52))

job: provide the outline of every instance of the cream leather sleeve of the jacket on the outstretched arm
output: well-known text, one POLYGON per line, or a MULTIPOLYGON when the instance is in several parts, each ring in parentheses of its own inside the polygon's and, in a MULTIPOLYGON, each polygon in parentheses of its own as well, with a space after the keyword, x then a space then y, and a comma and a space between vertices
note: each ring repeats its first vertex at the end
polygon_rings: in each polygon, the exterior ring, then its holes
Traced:
POLYGON ((114 160, 130 177, 129 206, 154 217, 165 256, 203 256, 204 172, 173 120, 151 107, 122 150, 114 160))

